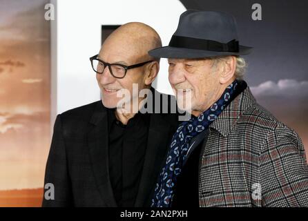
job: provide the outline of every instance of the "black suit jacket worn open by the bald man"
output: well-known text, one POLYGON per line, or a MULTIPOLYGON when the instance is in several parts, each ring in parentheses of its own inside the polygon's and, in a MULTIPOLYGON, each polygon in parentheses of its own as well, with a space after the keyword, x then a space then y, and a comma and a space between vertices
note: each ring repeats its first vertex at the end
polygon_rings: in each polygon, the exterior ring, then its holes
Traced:
MULTIPOLYGON (((43 206, 117 206, 109 179, 107 117, 102 101, 57 115, 45 175, 45 184, 55 186, 55 200, 44 198, 43 206)), ((151 114, 135 206, 151 204, 177 120, 176 113, 151 114)))

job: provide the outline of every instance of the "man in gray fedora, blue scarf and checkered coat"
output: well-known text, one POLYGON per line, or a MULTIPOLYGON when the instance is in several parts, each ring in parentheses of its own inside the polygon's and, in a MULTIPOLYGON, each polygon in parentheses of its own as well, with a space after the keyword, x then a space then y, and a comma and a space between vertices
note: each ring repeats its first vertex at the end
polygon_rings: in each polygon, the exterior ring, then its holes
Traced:
POLYGON ((308 206, 300 137, 242 80, 250 51, 231 15, 187 10, 169 46, 149 52, 168 58, 178 105, 191 102, 192 114, 173 135, 152 206, 308 206))

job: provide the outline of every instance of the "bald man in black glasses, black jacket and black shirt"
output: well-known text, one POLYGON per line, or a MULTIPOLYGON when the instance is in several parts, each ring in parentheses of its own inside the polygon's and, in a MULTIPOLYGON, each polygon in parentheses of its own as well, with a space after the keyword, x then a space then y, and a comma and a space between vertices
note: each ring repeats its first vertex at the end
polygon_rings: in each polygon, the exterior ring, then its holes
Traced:
POLYGON ((160 63, 148 51, 160 46, 153 28, 127 23, 90 57, 102 100, 57 115, 43 206, 150 206, 177 128, 173 97, 151 87, 160 63))

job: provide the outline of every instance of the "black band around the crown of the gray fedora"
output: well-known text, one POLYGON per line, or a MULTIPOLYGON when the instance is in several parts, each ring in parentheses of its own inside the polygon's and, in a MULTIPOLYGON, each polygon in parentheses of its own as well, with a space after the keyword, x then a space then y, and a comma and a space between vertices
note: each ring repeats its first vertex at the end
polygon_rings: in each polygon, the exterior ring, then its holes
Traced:
POLYGON ((218 52, 239 52, 239 44, 235 39, 229 41, 228 43, 221 43, 219 41, 173 35, 169 46, 175 48, 190 48, 218 52))

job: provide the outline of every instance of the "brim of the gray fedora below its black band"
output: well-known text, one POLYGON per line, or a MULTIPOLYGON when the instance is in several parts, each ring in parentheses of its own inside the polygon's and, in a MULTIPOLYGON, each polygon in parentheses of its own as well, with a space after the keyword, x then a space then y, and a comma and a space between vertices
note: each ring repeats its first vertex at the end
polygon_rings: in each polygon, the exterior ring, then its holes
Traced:
POLYGON ((204 57, 229 56, 229 55, 248 55, 252 48, 248 46, 239 46, 239 52, 218 52, 210 50, 197 50, 190 48, 175 48, 164 46, 155 48, 148 52, 152 57, 179 58, 179 59, 197 59, 204 57))

